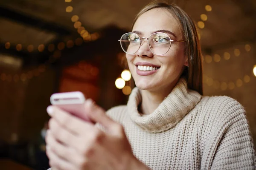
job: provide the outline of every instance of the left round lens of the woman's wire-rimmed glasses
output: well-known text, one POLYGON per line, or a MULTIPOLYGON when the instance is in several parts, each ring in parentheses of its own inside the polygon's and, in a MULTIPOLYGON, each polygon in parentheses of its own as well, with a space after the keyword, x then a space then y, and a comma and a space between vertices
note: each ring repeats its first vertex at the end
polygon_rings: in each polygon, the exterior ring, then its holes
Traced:
POLYGON ((121 37, 121 47, 127 54, 134 54, 140 48, 140 37, 135 33, 126 33, 121 37))

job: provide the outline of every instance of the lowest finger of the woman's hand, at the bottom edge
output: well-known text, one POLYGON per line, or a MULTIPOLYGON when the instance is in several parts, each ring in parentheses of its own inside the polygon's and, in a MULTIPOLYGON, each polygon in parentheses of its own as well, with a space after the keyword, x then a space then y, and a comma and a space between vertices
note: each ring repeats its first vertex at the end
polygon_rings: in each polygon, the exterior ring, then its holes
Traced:
POLYGON ((58 170, 76 170, 76 167, 70 162, 58 157, 51 149, 47 146, 46 154, 49 158, 49 165, 58 170))

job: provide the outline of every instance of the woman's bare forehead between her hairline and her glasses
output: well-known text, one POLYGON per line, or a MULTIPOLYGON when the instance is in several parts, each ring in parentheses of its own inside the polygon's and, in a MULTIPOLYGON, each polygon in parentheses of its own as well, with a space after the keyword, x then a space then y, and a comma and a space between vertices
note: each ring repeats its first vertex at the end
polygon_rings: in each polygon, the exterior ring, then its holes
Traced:
POLYGON ((176 18, 163 8, 154 8, 143 13, 133 27, 133 31, 140 31, 143 36, 149 36, 151 32, 157 30, 168 30, 173 32, 176 37, 182 37, 176 18))

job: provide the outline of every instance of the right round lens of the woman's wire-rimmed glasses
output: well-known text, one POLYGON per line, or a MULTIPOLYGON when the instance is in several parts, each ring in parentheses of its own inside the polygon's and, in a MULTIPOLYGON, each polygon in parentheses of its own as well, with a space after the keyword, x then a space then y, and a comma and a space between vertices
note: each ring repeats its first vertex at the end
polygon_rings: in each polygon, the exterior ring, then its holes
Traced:
POLYGON ((171 38, 166 33, 154 33, 149 39, 149 48, 156 55, 163 55, 169 51, 171 47, 171 38))

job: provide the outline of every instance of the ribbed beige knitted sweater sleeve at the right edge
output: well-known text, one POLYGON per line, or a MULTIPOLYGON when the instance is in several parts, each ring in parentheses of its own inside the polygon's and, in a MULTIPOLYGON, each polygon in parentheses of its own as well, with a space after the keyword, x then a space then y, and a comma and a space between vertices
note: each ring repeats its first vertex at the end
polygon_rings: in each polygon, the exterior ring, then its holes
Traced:
POLYGON ((249 125, 242 106, 236 102, 227 110, 223 131, 212 156, 211 170, 255 170, 256 157, 249 125))

